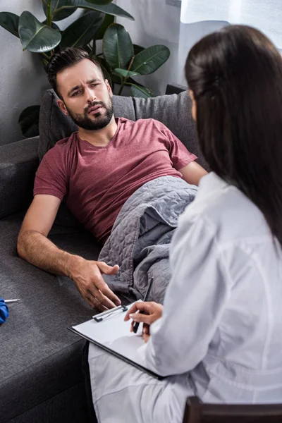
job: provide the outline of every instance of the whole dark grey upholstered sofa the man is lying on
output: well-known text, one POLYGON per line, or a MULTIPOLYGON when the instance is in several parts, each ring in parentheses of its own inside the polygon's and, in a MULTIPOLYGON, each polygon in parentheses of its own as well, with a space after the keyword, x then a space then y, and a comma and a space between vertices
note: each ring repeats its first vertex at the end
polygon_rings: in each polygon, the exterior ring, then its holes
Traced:
MULTIPOLYGON (((190 106, 187 92, 149 100, 114 97, 116 116, 157 118, 198 154, 190 106)), ((93 310, 68 278, 57 279, 16 252, 39 159, 75 130, 52 90, 42 99, 39 126, 40 138, 0 147, 0 297, 20 298, 0 325, 0 423, 83 423, 90 421, 81 368, 84 341, 68 327, 90 319, 93 310)), ((87 259, 99 255, 101 246, 63 206, 49 238, 87 259)))

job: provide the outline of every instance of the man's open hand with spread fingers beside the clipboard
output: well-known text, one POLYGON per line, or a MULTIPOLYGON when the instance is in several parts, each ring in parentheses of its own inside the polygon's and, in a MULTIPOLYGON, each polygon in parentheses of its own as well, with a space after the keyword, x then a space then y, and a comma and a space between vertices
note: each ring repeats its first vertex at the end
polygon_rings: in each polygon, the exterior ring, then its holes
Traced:
POLYGON ((121 305, 121 300, 110 290, 102 274, 114 275, 118 265, 108 266, 104 262, 94 262, 76 257, 71 265, 71 279, 75 282, 82 298, 91 307, 105 311, 121 305))

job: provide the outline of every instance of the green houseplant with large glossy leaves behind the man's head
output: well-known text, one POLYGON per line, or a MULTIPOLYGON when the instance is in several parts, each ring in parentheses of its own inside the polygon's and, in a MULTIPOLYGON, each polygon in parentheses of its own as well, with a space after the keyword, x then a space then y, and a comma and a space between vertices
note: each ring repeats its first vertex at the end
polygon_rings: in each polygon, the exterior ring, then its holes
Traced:
MULTIPOLYGON (((20 16, 0 13, 0 26, 20 39, 23 50, 38 54, 46 68, 51 56, 66 47, 82 47, 96 56, 111 85, 118 84, 118 94, 125 85, 135 97, 154 94, 135 80, 148 75, 167 61, 170 51, 157 45, 147 49, 135 46, 123 25, 114 23, 116 16, 134 20, 128 12, 111 3, 112 0, 42 0, 46 19, 39 22, 29 11, 20 16), (84 9, 77 20, 65 30, 59 22, 71 16, 78 8, 84 9), (97 54, 97 41, 102 39, 102 52, 97 54)), ((39 106, 28 106, 19 118, 23 135, 38 135, 39 106)))

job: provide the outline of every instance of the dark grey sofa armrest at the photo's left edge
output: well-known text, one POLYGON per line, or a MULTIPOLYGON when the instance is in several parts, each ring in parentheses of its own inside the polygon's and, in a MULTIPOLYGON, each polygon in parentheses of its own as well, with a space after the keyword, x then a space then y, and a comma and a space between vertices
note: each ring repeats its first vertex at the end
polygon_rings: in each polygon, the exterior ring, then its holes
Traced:
POLYGON ((0 146, 0 219, 25 209, 32 200, 39 137, 0 146))

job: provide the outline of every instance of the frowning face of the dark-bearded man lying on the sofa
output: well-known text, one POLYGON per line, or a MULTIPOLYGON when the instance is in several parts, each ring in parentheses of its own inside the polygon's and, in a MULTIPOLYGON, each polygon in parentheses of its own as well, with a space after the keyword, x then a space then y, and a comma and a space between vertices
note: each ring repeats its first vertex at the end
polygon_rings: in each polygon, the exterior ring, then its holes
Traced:
POLYGON ((109 125, 113 117, 112 92, 99 68, 83 59, 57 75, 57 87, 62 100, 60 109, 86 130, 99 130, 109 125))

